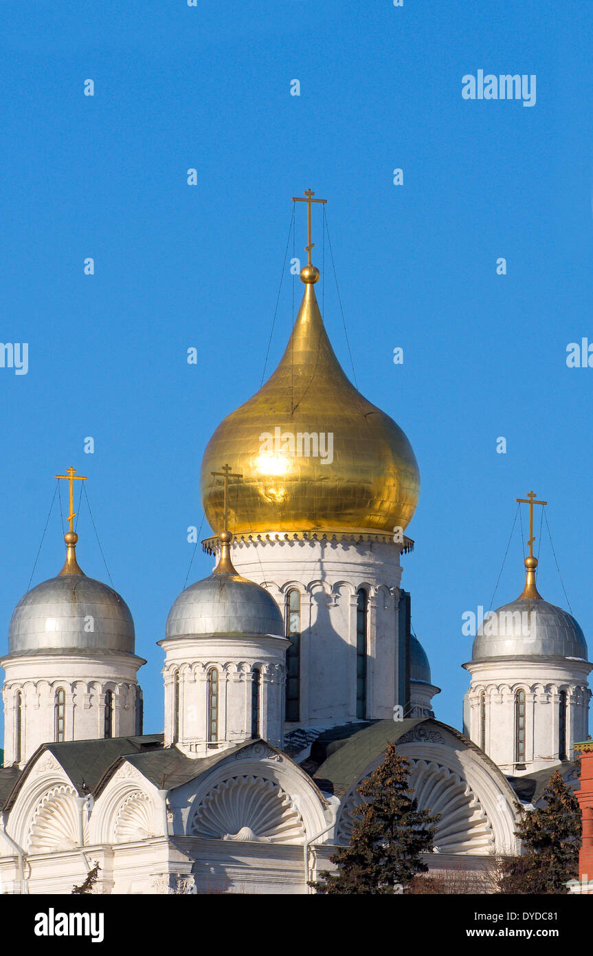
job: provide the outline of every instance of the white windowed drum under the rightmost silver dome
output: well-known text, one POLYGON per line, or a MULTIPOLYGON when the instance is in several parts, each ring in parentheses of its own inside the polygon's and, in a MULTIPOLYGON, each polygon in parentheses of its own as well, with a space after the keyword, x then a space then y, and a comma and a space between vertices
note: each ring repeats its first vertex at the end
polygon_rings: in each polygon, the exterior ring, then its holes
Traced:
POLYGON ((560 762, 561 690, 567 695, 566 756, 572 759, 572 745, 585 740, 588 732, 589 663, 526 658, 473 662, 465 666, 472 675, 467 693, 469 736, 481 747, 479 702, 484 691, 484 750, 504 773, 532 773, 560 762), (519 769, 515 761, 515 694, 521 689, 525 691, 524 769, 519 769))

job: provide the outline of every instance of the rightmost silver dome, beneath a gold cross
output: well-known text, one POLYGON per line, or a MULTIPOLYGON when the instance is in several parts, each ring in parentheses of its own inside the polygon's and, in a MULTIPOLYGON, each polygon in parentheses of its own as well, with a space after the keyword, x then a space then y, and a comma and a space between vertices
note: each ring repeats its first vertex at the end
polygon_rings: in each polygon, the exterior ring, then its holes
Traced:
POLYGON ((485 618, 477 631, 472 661, 499 657, 556 657, 587 660, 577 621, 543 598, 518 597, 485 618))

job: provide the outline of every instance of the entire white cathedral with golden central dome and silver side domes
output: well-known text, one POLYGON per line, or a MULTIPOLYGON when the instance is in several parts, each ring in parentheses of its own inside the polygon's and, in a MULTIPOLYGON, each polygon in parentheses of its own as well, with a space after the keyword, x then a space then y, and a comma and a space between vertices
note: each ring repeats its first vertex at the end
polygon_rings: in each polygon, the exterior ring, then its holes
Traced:
MULTIPOLYGON (((307 894, 390 743, 419 808, 441 815, 431 872, 478 881, 519 852, 518 799, 536 806, 556 767, 579 786, 592 665, 577 621, 538 592, 533 532, 522 592, 459 662, 463 731, 434 717, 439 688, 402 588, 418 466, 329 342, 312 196, 285 354, 203 454, 214 570, 163 596, 161 734, 142 732, 130 609, 76 554, 83 479, 56 476, 70 485, 65 563, 16 604, 0 662, 4 894, 71 893, 95 862, 103 894, 307 894)), ((525 500, 533 529, 541 503, 525 500)))

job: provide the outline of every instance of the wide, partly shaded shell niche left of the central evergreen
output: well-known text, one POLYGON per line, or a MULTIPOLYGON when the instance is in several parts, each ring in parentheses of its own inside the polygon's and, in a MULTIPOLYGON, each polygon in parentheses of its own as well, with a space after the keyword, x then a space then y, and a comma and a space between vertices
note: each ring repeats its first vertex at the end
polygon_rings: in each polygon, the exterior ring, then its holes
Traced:
POLYGON ((305 825, 279 784, 247 774, 222 781, 201 800, 190 834, 207 839, 300 844, 305 841, 305 825))

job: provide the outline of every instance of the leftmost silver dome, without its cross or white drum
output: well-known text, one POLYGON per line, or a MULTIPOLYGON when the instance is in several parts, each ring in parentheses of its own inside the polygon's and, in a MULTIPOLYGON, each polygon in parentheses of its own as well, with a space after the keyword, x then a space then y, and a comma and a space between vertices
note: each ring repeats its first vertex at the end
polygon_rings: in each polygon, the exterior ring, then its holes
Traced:
POLYGON ((9 628, 9 654, 134 654, 134 637, 130 608, 113 588, 86 575, 61 574, 19 600, 9 628))

